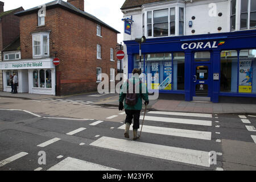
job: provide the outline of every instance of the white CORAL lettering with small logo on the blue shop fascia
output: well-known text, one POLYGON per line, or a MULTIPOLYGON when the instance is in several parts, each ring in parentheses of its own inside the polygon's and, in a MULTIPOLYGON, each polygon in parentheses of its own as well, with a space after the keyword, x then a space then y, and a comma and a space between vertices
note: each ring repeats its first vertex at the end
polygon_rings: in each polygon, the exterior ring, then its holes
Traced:
POLYGON ((222 46, 223 44, 225 44, 224 40, 221 40, 217 43, 217 41, 214 42, 192 42, 192 43, 184 43, 181 45, 181 48, 183 50, 185 49, 206 49, 206 48, 218 48, 218 46, 222 46))

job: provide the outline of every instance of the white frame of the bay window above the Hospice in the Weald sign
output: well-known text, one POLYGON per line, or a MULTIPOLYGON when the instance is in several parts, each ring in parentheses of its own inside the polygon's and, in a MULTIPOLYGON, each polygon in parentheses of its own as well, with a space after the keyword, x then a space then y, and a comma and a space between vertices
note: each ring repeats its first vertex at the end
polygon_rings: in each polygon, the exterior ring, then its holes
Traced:
MULTIPOLYGON (((38 45, 36 45, 38 46, 38 45)), ((32 55, 34 57, 49 57, 49 32, 39 32, 32 34, 32 55), (40 37, 40 55, 35 55, 35 44, 34 44, 34 38, 39 36, 40 37), (47 36, 47 55, 44 54, 44 36, 47 36)))

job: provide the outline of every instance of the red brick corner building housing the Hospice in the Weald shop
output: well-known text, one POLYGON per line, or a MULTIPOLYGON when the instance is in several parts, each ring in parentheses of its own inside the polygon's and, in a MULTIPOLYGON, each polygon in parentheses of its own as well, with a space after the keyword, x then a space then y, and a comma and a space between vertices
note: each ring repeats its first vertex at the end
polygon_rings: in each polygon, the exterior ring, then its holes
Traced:
POLYGON ((53 1, 15 15, 20 18, 22 60, 6 62, 0 69, 18 70, 18 92, 92 92, 97 90, 101 73, 109 77, 117 73, 114 59, 119 32, 86 13, 84 0, 53 1), (60 59, 56 68, 55 56, 60 59))

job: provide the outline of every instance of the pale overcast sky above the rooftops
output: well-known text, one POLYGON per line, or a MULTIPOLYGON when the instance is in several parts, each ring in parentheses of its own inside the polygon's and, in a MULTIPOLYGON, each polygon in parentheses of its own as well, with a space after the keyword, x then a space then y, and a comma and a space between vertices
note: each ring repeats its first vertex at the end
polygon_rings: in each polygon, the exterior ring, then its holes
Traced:
MULTIPOLYGON (((13 10, 20 6, 24 10, 31 9, 39 5, 43 5, 53 0, 0 0, 5 3, 4 11, 13 10)), ((64 0, 67 2, 67 0, 64 0)), ((118 34, 118 43, 123 41, 123 27, 122 22, 123 13, 120 10, 125 0, 84 0, 84 9, 87 13, 96 16, 102 22, 108 24, 109 26, 115 28, 115 30, 121 32, 118 34)))

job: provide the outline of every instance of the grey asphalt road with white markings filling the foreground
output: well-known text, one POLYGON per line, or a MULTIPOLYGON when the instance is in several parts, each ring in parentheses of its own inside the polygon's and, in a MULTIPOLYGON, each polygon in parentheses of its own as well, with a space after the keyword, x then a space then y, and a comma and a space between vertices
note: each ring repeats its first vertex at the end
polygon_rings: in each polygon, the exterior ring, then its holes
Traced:
POLYGON ((133 141, 118 129, 123 122, 35 114, 0 110, 0 171, 256 170, 255 131, 246 128, 256 126, 254 116, 150 112, 142 137, 133 141), (46 154, 46 164, 39 164, 40 151, 46 154), (216 164, 208 162, 210 151, 217 154, 216 164))

